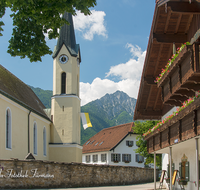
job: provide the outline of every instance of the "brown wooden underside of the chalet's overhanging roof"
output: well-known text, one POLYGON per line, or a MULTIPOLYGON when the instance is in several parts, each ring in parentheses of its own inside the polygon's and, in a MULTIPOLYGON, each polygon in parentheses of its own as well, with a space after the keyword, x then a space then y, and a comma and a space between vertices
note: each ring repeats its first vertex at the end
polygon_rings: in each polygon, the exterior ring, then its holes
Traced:
POLYGON ((159 120, 172 108, 163 104, 162 89, 154 80, 173 55, 173 43, 178 48, 187 41, 193 42, 196 30, 191 27, 197 22, 199 7, 199 0, 156 1, 134 120, 159 120))

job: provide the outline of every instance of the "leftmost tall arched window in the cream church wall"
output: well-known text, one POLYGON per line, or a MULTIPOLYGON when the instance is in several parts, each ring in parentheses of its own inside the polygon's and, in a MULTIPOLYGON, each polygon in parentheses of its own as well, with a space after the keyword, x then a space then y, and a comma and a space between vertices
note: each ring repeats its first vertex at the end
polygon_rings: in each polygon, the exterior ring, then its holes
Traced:
POLYGON ((6 148, 11 149, 11 111, 6 110, 6 148))

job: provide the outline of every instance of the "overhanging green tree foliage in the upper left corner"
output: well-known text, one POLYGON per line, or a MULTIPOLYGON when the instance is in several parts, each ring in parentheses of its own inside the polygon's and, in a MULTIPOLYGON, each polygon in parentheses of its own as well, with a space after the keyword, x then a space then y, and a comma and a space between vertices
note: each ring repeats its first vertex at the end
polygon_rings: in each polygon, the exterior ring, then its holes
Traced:
MULTIPOLYGON (((0 0, 0 18, 6 8, 12 11, 14 28, 8 53, 20 58, 27 56, 31 62, 41 61, 42 56, 52 54, 44 34, 55 39, 59 36, 58 29, 67 23, 61 14, 66 11, 75 15, 76 10, 80 10, 88 15, 89 8, 95 5, 96 0, 0 0)), ((0 21, 0 36, 3 25, 0 21)))

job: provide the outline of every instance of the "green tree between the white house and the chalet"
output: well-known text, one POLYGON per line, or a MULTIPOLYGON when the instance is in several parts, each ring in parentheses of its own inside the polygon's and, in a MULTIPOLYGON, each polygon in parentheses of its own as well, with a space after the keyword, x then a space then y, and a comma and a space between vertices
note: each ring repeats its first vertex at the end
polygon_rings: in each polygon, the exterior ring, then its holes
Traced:
MULTIPOLYGON (((139 153, 141 156, 146 157, 146 162, 145 164, 149 163, 154 163, 154 155, 149 154, 147 151, 147 141, 144 140, 143 134, 147 132, 149 129, 153 128, 159 121, 145 121, 145 122, 140 122, 136 121, 135 122, 135 127, 134 127, 134 132, 139 134, 137 136, 137 146, 138 148, 135 150, 136 153, 139 153)), ((160 167, 162 166, 162 155, 157 154, 156 155, 156 166, 160 167)))

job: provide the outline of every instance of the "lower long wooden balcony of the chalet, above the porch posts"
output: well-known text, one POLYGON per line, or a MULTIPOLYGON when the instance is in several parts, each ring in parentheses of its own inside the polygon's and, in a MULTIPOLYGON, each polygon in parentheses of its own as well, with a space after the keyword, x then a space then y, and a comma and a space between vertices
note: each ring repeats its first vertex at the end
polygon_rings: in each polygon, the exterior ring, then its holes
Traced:
POLYGON ((200 135, 200 98, 174 116, 159 129, 147 135, 149 153, 200 135))

